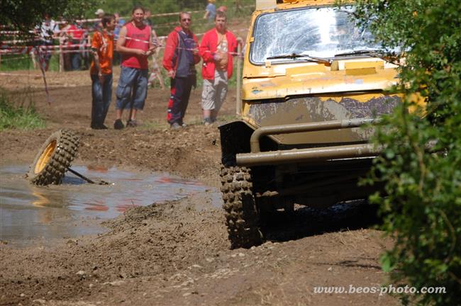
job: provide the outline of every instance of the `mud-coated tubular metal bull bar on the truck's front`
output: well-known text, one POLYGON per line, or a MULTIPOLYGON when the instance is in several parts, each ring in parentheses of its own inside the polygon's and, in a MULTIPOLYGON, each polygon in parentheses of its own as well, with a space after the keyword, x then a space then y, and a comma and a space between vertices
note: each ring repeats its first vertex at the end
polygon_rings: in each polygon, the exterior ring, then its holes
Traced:
POLYGON ((374 157, 379 154, 371 144, 339 145, 332 147, 315 147, 309 149, 289 149, 261 152, 260 138, 265 135, 289 134, 296 132, 317 132, 358 128, 366 123, 377 123, 377 119, 332 120, 319 123, 299 123, 292 125, 272 125, 258 128, 250 138, 251 153, 237 154, 239 166, 262 166, 267 164, 286 164, 291 162, 309 162, 353 157, 374 157))

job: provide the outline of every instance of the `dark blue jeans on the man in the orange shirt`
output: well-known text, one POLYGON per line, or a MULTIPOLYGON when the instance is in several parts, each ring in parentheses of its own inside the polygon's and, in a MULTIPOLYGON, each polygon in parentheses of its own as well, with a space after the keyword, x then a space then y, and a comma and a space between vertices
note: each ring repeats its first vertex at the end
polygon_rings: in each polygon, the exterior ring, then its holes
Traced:
POLYGON ((104 125, 107 111, 111 105, 112 97, 112 74, 104 74, 104 82, 101 85, 97 74, 91 74, 91 128, 104 125))

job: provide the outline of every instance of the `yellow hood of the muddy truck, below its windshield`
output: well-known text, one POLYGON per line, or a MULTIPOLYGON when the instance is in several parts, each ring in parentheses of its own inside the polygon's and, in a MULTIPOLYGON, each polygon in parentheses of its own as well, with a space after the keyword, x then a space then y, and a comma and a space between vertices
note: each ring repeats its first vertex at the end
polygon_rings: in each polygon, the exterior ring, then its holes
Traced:
POLYGON ((243 75, 243 100, 348 91, 376 91, 396 84, 396 65, 381 59, 335 60, 331 64, 254 67, 243 75))

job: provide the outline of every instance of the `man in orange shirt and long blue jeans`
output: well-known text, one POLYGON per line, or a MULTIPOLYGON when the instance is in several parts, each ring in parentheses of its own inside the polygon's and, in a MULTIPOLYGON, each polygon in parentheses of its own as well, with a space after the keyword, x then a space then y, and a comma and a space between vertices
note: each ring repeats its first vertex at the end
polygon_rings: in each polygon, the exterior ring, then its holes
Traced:
POLYGON ((91 40, 91 128, 106 130, 104 125, 112 96, 112 58, 113 29, 116 26, 115 16, 105 14, 102 19, 102 30, 96 31, 91 40))

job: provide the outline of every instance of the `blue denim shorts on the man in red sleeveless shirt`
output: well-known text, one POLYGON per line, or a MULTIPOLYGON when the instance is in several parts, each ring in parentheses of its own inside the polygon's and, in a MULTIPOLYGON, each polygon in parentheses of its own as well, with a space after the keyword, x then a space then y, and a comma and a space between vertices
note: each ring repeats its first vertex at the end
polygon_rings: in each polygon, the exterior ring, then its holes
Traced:
POLYGON ((116 109, 144 108, 148 96, 148 69, 121 66, 120 79, 116 91, 116 109))

